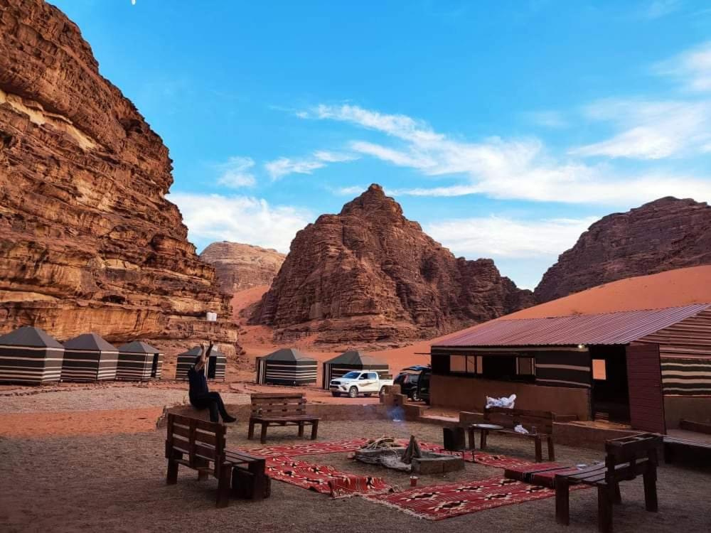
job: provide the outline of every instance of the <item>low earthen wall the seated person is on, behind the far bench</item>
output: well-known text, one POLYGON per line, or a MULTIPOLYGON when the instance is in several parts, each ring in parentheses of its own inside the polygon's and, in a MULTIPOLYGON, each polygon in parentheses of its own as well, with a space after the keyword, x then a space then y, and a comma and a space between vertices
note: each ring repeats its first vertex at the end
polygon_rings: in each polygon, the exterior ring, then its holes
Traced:
MULTIPOLYGON (((240 422, 250 418, 251 406, 246 404, 226 404, 228 412, 232 416, 237 416, 240 422)), ((209 420, 210 411, 208 409, 195 409, 190 404, 176 405, 166 409, 169 413, 191 416, 196 419, 209 420)), ((390 420, 392 417, 388 413, 385 404, 365 404, 365 405, 345 405, 345 404, 306 404, 306 413, 319 416, 321 421, 329 420, 390 420)), ((161 428, 167 424, 166 417, 156 423, 161 428)))

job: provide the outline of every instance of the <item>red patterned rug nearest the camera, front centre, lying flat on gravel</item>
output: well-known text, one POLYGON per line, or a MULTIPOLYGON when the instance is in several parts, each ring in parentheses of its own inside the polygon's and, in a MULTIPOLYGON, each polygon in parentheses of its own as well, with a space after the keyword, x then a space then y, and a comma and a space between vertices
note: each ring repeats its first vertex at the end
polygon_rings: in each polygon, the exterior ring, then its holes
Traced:
POLYGON ((416 517, 442 520, 553 495, 555 490, 496 477, 364 497, 416 517))

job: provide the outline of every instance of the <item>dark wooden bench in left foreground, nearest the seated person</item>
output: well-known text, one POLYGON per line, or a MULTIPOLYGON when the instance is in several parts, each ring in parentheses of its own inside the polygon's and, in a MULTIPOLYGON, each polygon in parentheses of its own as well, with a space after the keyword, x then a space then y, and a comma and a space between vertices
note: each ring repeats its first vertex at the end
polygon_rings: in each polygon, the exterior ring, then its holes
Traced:
POLYGON ((245 483, 249 485, 245 488, 233 484, 232 489, 238 495, 249 494, 252 499, 257 500, 269 494, 269 478, 265 473, 264 458, 225 450, 225 426, 222 424, 169 413, 166 459, 168 485, 178 483, 180 465, 197 470, 198 480, 203 480, 210 474, 217 478, 217 507, 228 505, 230 481, 235 468, 247 472, 246 476, 240 476, 240 480, 246 477, 245 483), (187 458, 184 458, 185 456, 187 458))

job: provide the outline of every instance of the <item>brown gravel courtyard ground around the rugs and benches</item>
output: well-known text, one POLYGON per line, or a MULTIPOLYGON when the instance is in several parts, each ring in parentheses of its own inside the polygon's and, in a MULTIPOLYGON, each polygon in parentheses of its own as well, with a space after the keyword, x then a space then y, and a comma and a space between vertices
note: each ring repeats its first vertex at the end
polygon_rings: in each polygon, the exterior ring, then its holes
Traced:
MULTIPOLYGON (((296 431, 270 429, 269 443, 299 442, 296 431)), ((231 446, 256 446, 245 438, 245 424, 229 429, 231 446)), ((388 434, 441 442, 442 430, 429 424, 387 421, 326 422, 320 440, 388 434)), ((491 451, 531 458, 533 447, 515 438, 491 438, 491 451)), ((560 461, 589 462, 599 453, 560 446, 560 461)), ((345 454, 305 457, 354 473, 377 472, 390 483, 405 485, 407 474, 353 463, 345 454)), ((166 486, 164 434, 0 438, 0 479, 12 490, 0 490, 0 529, 4 532, 561 532, 597 531, 597 494, 571 494, 571 525, 555 524, 552 498, 508 505, 441 522, 419 520, 405 513, 353 497, 331 500, 286 483, 272 482, 272 497, 263 502, 232 500, 215 509, 214 479, 199 483, 196 473, 181 468, 178 485, 166 486), (198 525, 199 524, 199 525, 198 525)), ((501 469, 467 465, 470 479, 501 474, 501 469)), ((457 474, 459 476, 461 474, 457 474)), ((447 481, 422 476, 420 485, 447 481)), ((641 480, 623 483, 624 504, 615 508, 616 533, 711 531, 708 497, 711 471, 678 466, 659 470, 660 512, 643 507, 641 480)))

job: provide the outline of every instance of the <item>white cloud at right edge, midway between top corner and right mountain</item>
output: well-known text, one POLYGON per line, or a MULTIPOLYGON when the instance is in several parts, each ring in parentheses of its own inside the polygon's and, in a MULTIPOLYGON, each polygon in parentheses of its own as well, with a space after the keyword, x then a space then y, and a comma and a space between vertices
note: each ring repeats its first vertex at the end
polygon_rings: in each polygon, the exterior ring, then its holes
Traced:
POLYGON ((661 159, 702 151, 711 141, 710 102, 607 99, 585 111, 589 118, 613 122, 622 131, 570 154, 661 159))

